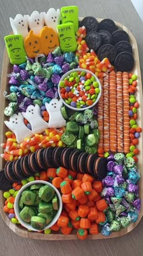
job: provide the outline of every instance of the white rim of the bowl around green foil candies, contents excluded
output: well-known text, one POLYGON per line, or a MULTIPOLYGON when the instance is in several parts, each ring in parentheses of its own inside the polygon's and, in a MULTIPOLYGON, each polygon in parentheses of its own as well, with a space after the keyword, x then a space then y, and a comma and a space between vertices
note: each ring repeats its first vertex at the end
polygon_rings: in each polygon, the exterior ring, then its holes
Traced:
MULTIPOLYGON (((34 185, 34 184, 49 185, 50 187, 52 187, 52 188, 55 190, 55 192, 56 192, 56 194, 57 194, 57 196, 58 196, 58 199, 59 199, 59 210, 58 210, 58 212, 56 213, 56 215, 54 216, 54 218, 52 219, 52 221, 51 221, 47 226, 45 226, 45 228, 44 228, 44 230, 45 230, 45 229, 49 229, 50 227, 52 227, 52 226, 56 223, 56 221, 58 221, 58 218, 59 218, 59 216, 61 215, 61 212, 62 212, 62 197, 61 197, 61 194, 59 193, 59 191, 57 190, 57 188, 55 188, 55 187, 54 187, 51 183, 49 183, 49 182, 46 182, 46 181, 44 181, 44 180, 35 180, 35 181, 33 181, 33 182, 28 182, 26 185, 24 185, 24 186, 21 188, 21 190, 19 190, 18 194, 17 194, 16 197, 15 197, 15 204, 14 204, 15 215, 16 215, 16 217, 18 218, 18 221, 19 221, 19 222, 22 224, 22 226, 24 226, 26 229, 32 230, 32 231, 39 231, 39 230, 37 230, 37 229, 33 229, 33 227, 32 227, 30 224, 28 224, 27 222, 23 221, 23 220, 21 219, 21 217, 19 216, 19 205, 18 205, 18 202, 19 202, 19 199, 20 199, 20 197, 21 197, 21 194, 22 194, 22 192, 23 192, 25 189, 27 189, 28 187, 30 187, 31 185, 34 185)), ((40 230, 40 231, 41 231, 41 230, 40 230)))

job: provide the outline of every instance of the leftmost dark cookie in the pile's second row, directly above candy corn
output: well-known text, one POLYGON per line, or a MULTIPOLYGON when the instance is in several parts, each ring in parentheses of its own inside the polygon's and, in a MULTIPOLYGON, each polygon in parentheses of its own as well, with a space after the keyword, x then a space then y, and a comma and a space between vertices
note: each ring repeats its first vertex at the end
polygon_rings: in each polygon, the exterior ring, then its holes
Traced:
POLYGON ((88 48, 93 49, 95 52, 98 51, 98 49, 102 45, 101 35, 94 31, 88 32, 88 34, 85 37, 85 41, 87 43, 88 48))

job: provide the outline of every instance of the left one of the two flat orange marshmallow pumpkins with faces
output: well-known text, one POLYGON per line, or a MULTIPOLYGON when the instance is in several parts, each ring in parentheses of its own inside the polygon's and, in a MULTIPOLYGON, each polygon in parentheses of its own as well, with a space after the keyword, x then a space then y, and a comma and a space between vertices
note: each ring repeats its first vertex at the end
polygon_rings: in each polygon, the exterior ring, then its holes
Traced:
POLYGON ((39 35, 33 34, 33 30, 30 30, 25 38, 24 48, 29 58, 35 58, 38 54, 43 53, 40 37, 39 35))

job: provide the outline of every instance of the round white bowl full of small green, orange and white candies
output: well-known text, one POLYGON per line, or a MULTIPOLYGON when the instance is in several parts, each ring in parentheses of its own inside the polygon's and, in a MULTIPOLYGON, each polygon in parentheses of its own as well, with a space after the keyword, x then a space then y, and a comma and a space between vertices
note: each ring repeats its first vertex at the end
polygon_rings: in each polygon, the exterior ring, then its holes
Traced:
POLYGON ((101 84, 91 71, 76 68, 61 77, 58 93, 59 98, 68 108, 84 111, 98 103, 101 97, 101 84))

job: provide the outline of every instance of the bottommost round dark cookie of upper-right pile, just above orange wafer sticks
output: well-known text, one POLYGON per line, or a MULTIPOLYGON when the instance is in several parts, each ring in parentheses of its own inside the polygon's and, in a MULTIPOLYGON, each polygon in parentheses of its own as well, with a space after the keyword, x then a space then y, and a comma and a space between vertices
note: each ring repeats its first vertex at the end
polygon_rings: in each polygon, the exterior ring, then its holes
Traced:
POLYGON ((134 65, 133 55, 130 52, 121 52, 116 56, 115 68, 117 71, 131 71, 134 65))

